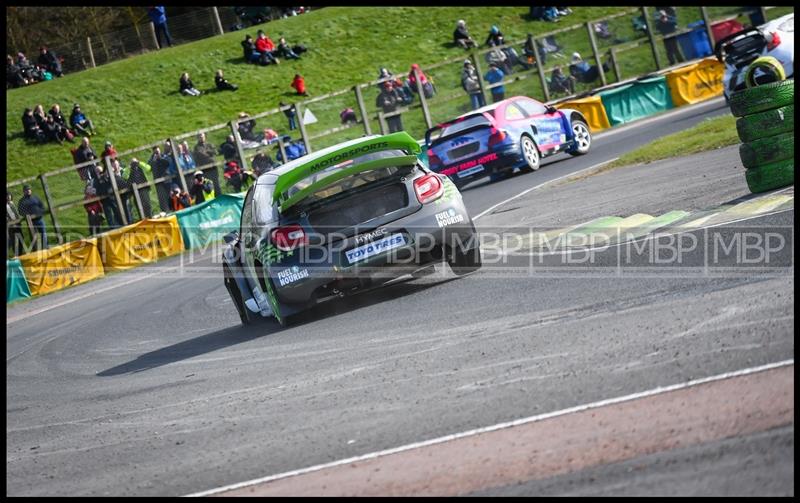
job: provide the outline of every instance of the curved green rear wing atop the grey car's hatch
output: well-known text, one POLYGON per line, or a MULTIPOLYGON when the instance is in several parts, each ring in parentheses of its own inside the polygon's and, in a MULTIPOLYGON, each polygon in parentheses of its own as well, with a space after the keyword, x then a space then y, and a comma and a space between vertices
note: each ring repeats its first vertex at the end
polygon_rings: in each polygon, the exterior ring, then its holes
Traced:
POLYGON ((363 171, 384 168, 387 166, 414 164, 417 160, 416 155, 421 152, 422 148, 419 146, 416 140, 414 140, 405 131, 379 136, 377 138, 370 138, 369 140, 365 140, 363 143, 357 143, 342 149, 334 150, 322 157, 315 158, 307 164, 298 166, 297 168, 280 175, 275 181, 275 188, 273 190, 272 197, 278 202, 281 211, 285 211, 287 208, 296 204, 309 194, 335 183, 344 177, 363 171), (362 156, 364 154, 378 152, 381 150, 398 149, 405 150, 406 152, 414 155, 376 159, 374 161, 343 167, 340 172, 328 175, 322 180, 312 183, 308 187, 305 187, 293 194, 291 197, 288 194, 289 189, 295 184, 316 173, 321 172, 326 168, 335 166, 337 164, 342 164, 350 159, 362 156), (412 159, 413 162, 411 161, 412 159))

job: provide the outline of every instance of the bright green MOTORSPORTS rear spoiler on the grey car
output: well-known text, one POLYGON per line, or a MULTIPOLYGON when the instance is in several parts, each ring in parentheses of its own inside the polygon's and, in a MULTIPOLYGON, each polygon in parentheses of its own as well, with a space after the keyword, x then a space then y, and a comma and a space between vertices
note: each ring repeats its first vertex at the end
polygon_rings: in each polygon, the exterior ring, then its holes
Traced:
MULTIPOLYGON (((285 208, 288 208, 292 204, 296 203, 297 201, 299 201, 299 199, 297 199, 297 195, 300 194, 301 192, 305 192, 306 195, 308 195, 307 189, 311 187, 315 187, 315 190, 320 189, 319 182, 315 182, 309 187, 306 187, 302 191, 298 192, 297 194, 294 194, 291 198, 288 197, 288 195, 286 195, 286 192, 297 182, 305 178, 308 178, 309 176, 318 173, 325 168, 329 168, 336 164, 343 163, 349 159, 353 159, 360 155, 364 155, 370 152, 378 152, 381 150, 396 150, 396 149, 406 150, 414 154, 415 156, 416 154, 419 154, 422 151, 422 148, 419 146, 419 144, 417 144, 417 142, 405 131, 379 136, 378 138, 371 138, 369 140, 365 140, 363 143, 358 143, 355 145, 344 147, 339 150, 334 150, 329 154, 326 154, 322 157, 314 159, 313 161, 310 161, 308 164, 303 164, 302 166, 298 166, 297 168, 289 171, 288 173, 280 175, 278 179, 275 181, 275 189, 272 193, 272 198, 280 203, 281 210, 283 210, 285 208), (292 204, 286 205, 286 203, 290 200, 293 201, 292 204)), ((401 156, 398 158, 394 158, 395 165, 397 165, 396 163, 398 159, 404 160, 406 157, 409 156, 401 156)), ((414 158, 416 159, 416 157, 414 158)), ((377 160, 383 160, 383 159, 377 159, 377 160)), ((365 162, 363 164, 357 164, 356 166, 352 166, 351 168, 343 169, 342 171, 349 171, 352 170, 352 168, 356 167, 362 168, 358 171, 355 171, 357 173, 359 171, 367 171, 367 169, 363 169, 364 167, 368 167, 368 169, 378 169, 379 167, 385 167, 385 165, 377 166, 374 163, 375 161, 365 162)), ((349 174, 352 175, 353 172, 350 172, 349 174)), ((335 181, 333 180, 333 178, 334 176, 330 175, 325 177, 323 180, 320 180, 320 182, 328 180, 335 181)), ((340 178, 337 178, 337 180, 338 179, 340 178)), ((325 185, 323 184, 322 186, 325 185)))

